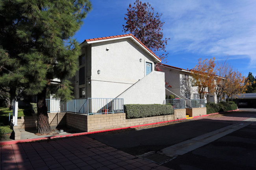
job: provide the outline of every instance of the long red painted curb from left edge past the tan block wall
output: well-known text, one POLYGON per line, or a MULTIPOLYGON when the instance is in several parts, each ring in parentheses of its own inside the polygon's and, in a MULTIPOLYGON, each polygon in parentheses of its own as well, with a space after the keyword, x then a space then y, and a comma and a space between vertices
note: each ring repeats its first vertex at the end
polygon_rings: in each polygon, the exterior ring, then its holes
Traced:
MULTIPOLYGON (((184 118, 184 119, 186 119, 186 118, 184 118)), ((0 142, 0 145, 17 144, 17 143, 25 143, 25 142, 33 142, 33 141, 47 140, 47 139, 56 139, 56 138, 62 138, 62 137, 81 136, 81 135, 88 135, 88 134, 93 134, 93 133, 110 132, 110 131, 114 131, 114 130, 122 130, 122 129, 128 129, 128 128, 136 128, 136 127, 148 126, 148 125, 152 125, 152 124, 160 124, 160 123, 166 123, 166 122, 180 121, 180 120, 184 120, 184 119, 176 119, 176 120, 171 120, 171 121, 163 121, 163 122, 156 122, 156 123, 149 123, 149 124, 141 124, 141 125, 137 125, 137 126, 128 126, 128 127, 124 127, 124 128, 115 128, 115 129, 108 129, 108 130, 99 130, 99 131, 95 131, 95 132, 82 132, 82 133, 73 133, 73 134, 70 134, 70 135, 59 135, 59 136, 50 136, 50 137, 40 137, 40 138, 36 138, 36 139, 21 139, 21 140, 16 140, 16 141, 15 141, 15 140, 14 140, 14 141, 4 141, 4 142, 0 142)))

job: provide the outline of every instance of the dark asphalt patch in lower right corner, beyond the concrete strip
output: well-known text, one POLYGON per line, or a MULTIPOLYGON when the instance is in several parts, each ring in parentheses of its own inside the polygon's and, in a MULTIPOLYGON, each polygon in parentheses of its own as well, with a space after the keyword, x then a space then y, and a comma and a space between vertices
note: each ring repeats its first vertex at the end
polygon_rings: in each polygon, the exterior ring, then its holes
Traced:
POLYGON ((174 170, 255 170, 256 126, 246 126, 163 166, 174 170))

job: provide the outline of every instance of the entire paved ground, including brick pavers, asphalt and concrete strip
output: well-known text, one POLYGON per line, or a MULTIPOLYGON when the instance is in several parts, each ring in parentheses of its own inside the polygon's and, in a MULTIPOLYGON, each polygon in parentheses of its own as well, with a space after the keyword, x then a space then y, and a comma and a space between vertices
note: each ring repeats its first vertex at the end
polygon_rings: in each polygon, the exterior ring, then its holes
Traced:
POLYGON ((255 118, 256 112, 231 112, 158 128, 2 146, 0 170, 254 170, 255 118))

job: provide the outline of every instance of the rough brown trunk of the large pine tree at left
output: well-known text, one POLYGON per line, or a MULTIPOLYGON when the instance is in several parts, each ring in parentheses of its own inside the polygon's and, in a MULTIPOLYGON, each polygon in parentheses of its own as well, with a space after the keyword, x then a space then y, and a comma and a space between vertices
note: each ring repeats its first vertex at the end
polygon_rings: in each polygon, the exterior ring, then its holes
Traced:
POLYGON ((46 108, 46 87, 37 95, 37 133, 46 134, 51 132, 48 113, 46 108))

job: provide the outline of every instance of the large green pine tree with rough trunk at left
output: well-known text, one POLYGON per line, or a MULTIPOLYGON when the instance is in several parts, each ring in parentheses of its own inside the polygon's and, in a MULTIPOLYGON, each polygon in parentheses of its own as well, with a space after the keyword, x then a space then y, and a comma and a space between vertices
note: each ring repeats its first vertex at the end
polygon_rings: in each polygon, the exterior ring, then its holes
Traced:
POLYGON ((71 37, 91 9, 89 0, 2 0, 0 2, 0 82, 37 95, 37 133, 49 133, 46 93, 70 98, 68 78, 77 71, 80 47, 71 37), (54 78, 58 86, 49 90, 54 78))

